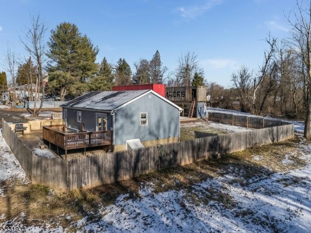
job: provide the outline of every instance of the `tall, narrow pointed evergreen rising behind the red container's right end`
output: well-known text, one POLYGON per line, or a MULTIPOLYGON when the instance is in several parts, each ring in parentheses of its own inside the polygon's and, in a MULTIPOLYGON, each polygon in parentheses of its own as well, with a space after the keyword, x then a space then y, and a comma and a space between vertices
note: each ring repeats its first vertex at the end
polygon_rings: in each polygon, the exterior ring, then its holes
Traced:
POLYGON ((160 53, 156 50, 149 65, 151 83, 164 83, 167 70, 167 67, 162 67, 160 53))

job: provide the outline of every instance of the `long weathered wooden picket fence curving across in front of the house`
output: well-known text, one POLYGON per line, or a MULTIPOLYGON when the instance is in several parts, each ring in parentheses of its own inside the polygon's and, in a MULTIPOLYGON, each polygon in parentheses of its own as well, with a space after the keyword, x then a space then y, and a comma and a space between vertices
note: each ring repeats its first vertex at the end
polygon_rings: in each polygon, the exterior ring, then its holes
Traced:
POLYGON ((259 130, 211 135, 190 141, 138 150, 109 152, 71 160, 32 154, 2 119, 2 134, 32 183, 74 189, 130 179, 168 167, 210 158, 215 152, 231 153, 294 138, 294 125, 282 124, 259 130), (15 149, 15 148, 18 149, 15 149))

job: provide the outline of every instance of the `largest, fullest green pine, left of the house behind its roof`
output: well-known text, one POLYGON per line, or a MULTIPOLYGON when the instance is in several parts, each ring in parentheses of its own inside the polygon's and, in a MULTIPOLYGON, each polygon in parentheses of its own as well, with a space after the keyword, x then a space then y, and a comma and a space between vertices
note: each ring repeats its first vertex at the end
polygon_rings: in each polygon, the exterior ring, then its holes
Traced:
POLYGON ((86 91, 87 85, 81 83, 97 72, 98 48, 86 35, 81 35, 75 24, 66 22, 51 31, 48 46, 47 55, 51 59, 49 75, 51 81, 55 80, 54 84, 59 85, 61 100, 68 91, 75 96, 86 91))

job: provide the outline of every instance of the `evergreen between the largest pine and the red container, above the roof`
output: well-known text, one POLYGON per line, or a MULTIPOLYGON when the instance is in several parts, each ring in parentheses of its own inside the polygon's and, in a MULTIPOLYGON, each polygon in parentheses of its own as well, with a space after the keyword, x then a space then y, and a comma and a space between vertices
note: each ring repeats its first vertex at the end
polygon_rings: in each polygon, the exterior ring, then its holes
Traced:
POLYGON ((88 83, 90 91, 109 91, 113 86, 114 75, 112 67, 104 57, 102 63, 99 65, 98 73, 91 77, 88 83))

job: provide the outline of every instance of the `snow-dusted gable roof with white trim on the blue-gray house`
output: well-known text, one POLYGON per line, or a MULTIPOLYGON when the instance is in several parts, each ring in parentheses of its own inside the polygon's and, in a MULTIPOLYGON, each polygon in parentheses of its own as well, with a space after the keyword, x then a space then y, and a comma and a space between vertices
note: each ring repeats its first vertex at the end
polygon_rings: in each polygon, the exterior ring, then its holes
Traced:
POLYGON ((60 105, 61 107, 72 107, 72 108, 84 108, 84 109, 95 109, 112 111, 118 110, 121 107, 139 99, 148 93, 153 93, 160 99, 168 102, 169 104, 176 107, 179 111, 181 108, 175 105, 170 100, 162 97, 153 90, 135 90, 135 91, 93 91, 86 93, 83 96, 77 97, 73 100, 68 101, 60 105))

